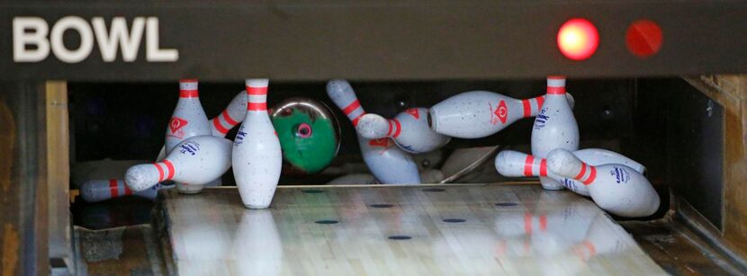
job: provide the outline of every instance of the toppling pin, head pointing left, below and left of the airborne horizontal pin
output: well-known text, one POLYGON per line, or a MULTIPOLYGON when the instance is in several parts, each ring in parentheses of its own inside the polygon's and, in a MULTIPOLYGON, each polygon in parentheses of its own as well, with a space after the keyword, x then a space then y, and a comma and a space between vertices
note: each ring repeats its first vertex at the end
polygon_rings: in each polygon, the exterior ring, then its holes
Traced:
POLYGON ((374 113, 365 114, 356 130, 364 138, 392 138, 397 146, 413 154, 444 147, 451 140, 428 127, 428 109, 422 107, 402 111, 392 120, 374 113))

